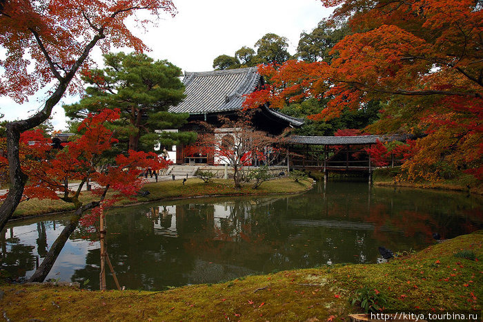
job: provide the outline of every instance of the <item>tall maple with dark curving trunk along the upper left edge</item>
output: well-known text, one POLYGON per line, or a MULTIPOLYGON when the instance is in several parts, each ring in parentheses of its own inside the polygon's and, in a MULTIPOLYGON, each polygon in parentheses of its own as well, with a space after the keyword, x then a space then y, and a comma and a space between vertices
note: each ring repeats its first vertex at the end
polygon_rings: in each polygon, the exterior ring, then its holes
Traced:
MULTIPOLYGON (((140 10, 155 17, 176 13, 170 0, 1 2, 0 44, 5 54, 0 59, 0 95, 23 102, 42 88, 51 89, 40 111, 6 124, 10 190, 0 207, 0 229, 19 204, 28 178, 19 160, 21 133, 45 121, 66 91, 75 92, 77 71, 88 68, 92 48, 99 46, 104 53, 111 46, 146 49, 126 26, 126 19, 140 10)), ((148 20, 137 22, 144 25, 148 20)))

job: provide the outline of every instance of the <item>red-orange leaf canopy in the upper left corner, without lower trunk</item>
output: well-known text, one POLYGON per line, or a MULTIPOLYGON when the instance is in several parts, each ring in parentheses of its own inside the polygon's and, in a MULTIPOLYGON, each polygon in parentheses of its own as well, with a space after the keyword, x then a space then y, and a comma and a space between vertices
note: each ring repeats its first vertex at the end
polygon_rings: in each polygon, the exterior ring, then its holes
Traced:
POLYGON ((90 61, 84 59, 97 43, 103 53, 111 46, 146 50, 126 26, 126 19, 139 10, 156 17, 176 13, 167 0, 6 1, 0 15, 0 44, 6 49, 0 59, 0 94, 22 102, 52 79, 87 68, 90 61))

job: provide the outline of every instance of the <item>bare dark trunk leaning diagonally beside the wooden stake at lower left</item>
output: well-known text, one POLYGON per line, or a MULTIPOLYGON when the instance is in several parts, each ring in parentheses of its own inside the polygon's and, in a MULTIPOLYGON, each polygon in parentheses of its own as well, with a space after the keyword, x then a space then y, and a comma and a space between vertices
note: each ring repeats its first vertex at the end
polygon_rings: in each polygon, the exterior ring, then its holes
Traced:
POLYGON ((59 257, 60 252, 63 249, 63 246, 66 245, 67 240, 69 239, 70 235, 75 231, 77 226, 79 225, 79 219, 82 216, 82 213, 88 209, 92 209, 94 207, 99 206, 99 202, 90 202, 85 206, 79 207, 76 211, 74 216, 70 218, 69 224, 62 230, 61 234, 55 242, 50 247, 47 255, 43 258, 43 261, 39 268, 34 272, 32 277, 28 279, 28 282, 43 282, 46 279, 47 275, 52 269, 55 261, 57 261, 57 257, 59 257))

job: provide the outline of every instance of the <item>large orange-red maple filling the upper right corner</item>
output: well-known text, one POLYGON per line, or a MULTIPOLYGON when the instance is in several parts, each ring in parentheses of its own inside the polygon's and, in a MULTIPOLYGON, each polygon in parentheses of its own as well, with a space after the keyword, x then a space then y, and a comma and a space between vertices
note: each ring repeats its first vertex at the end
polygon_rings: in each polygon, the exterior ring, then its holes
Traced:
POLYGON ((286 61, 259 70, 269 80, 246 106, 282 107, 328 98, 313 120, 382 102, 374 133, 419 135, 403 169, 410 180, 438 180, 445 169, 483 178, 483 61, 480 1, 324 0, 332 21, 353 33, 338 41, 333 59, 286 61))

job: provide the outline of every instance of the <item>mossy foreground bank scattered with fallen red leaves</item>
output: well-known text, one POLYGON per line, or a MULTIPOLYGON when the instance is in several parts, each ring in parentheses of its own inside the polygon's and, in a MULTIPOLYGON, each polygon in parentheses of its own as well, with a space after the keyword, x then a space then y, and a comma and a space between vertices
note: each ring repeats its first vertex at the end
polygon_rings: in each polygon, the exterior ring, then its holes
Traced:
POLYGON ((298 269, 164 292, 3 285, 0 310, 13 321, 347 321, 362 311, 350 303, 361 287, 378 301, 386 298, 388 310, 480 309, 482 243, 479 231, 385 264, 298 269))

